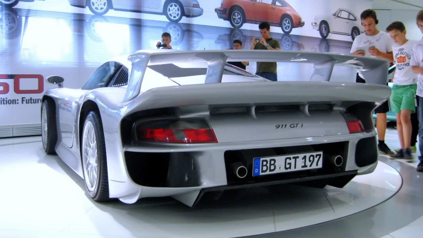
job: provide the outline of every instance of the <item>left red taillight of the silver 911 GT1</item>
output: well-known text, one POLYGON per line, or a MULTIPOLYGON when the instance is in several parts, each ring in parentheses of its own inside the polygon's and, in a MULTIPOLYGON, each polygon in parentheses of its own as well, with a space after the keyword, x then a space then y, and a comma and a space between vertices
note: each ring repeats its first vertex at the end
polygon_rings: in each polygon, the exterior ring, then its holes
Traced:
POLYGON ((217 143, 216 135, 204 120, 181 119, 136 125, 138 140, 169 143, 217 143))

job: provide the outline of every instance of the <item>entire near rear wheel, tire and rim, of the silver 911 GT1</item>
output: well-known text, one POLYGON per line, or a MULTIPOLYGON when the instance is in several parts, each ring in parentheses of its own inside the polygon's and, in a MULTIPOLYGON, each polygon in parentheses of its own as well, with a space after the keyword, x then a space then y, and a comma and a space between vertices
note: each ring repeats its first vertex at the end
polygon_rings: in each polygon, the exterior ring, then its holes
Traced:
POLYGON ((90 112, 84 122, 81 157, 85 187, 90 197, 97 202, 110 200, 103 124, 95 111, 90 112))

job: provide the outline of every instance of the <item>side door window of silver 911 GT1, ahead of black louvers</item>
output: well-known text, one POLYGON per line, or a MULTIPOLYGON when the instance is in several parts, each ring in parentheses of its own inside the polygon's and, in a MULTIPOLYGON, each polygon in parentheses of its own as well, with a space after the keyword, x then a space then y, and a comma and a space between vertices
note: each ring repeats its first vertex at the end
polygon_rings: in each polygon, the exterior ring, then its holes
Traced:
POLYGON ((81 88, 83 90, 92 90, 95 88, 103 88, 108 83, 108 80, 115 72, 118 63, 114 61, 109 61, 102 64, 100 67, 91 74, 90 78, 87 80, 85 85, 81 88))

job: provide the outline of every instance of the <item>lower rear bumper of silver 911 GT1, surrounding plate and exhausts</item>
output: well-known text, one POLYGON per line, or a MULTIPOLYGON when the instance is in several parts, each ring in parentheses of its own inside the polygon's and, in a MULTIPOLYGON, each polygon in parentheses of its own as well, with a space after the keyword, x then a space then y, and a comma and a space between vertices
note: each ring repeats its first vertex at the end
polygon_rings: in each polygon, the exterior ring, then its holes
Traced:
MULTIPOLYGON (((283 139, 259 143, 127 145, 123 147, 125 177, 127 177, 124 180, 127 182, 109 180, 109 183, 117 191, 120 191, 119 196, 113 197, 117 197, 125 203, 134 203, 143 197, 173 196, 189 207, 198 203, 201 196, 209 191, 284 183, 309 183, 319 179, 327 179, 329 184, 335 184, 335 186, 338 184, 339 187, 342 187, 356 175, 368 174, 374 170, 374 164, 377 163, 375 136, 374 132, 363 132, 342 136, 283 139), (371 143, 373 140, 374 143, 371 143), (339 146, 340 143, 343 145, 339 146), (322 147, 322 144, 326 144, 326 146, 322 147), (369 145, 363 149, 356 149, 360 144, 369 145), (344 158, 342 168, 334 170, 326 163, 326 166, 324 164, 320 170, 252 176, 252 159, 257 155, 266 156, 263 150, 272 151, 276 147, 303 145, 317 145, 317 148, 314 149, 322 150, 324 154, 342 154, 344 158), (319 146, 320 148, 318 148, 319 146), (335 147, 338 148, 332 149, 335 147), (369 153, 369 150, 374 153, 369 153), (360 151, 365 151, 365 153, 360 153, 360 151), (363 158, 366 154, 370 154, 370 157, 363 158), (243 179, 237 178, 234 173, 230 172, 230 166, 239 161, 245 163, 248 170, 248 176, 243 179)), ((111 194, 115 194, 113 189, 111 194)))

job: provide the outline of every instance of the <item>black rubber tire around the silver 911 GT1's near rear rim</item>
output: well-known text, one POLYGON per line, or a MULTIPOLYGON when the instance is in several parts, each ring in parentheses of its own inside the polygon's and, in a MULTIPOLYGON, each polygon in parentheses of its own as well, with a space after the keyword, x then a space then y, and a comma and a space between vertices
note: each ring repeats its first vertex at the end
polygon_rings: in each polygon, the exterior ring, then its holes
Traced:
MULTIPOLYGON (((90 126, 91 126, 90 125, 90 126)), ((87 141, 88 142, 88 141, 87 141)), ((104 202, 111 200, 109 197, 109 180, 107 174, 107 158, 106 158, 106 143, 104 141, 103 123, 101 121, 100 114, 96 111, 88 113, 84 121, 81 136, 81 162, 84 174, 85 188, 87 189, 88 195, 97 202, 104 202), (97 149, 97 176, 96 183, 91 190, 87 185, 87 173, 86 163, 84 163, 84 155, 87 152, 84 151, 84 142, 86 140, 84 131, 88 124, 92 125, 95 138, 96 138, 96 149, 97 149)))

